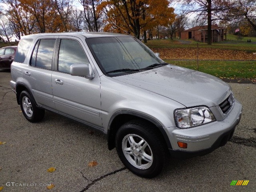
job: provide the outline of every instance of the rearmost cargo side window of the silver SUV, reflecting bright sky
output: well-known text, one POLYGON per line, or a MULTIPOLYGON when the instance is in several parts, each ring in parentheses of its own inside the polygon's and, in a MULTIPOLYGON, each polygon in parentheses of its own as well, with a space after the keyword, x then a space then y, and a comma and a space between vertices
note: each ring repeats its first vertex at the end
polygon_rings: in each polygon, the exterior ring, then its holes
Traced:
POLYGON ((15 62, 23 63, 27 56, 28 50, 31 46, 33 39, 21 39, 14 57, 15 62))

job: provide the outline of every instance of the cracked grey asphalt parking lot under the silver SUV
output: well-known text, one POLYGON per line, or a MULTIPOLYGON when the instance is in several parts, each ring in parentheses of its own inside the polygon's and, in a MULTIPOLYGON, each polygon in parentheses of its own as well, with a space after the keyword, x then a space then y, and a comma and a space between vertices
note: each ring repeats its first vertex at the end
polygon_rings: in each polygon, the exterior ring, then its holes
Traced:
POLYGON ((123 166, 100 132, 48 111, 40 123, 28 122, 10 79, 10 71, 0 70, 2 191, 255 191, 256 84, 230 83, 243 115, 227 145, 205 156, 170 159, 158 177, 145 179, 123 166), (97 165, 88 166, 93 161, 97 165), (50 167, 56 170, 47 172, 50 167), (230 186, 232 180, 249 183, 230 186))

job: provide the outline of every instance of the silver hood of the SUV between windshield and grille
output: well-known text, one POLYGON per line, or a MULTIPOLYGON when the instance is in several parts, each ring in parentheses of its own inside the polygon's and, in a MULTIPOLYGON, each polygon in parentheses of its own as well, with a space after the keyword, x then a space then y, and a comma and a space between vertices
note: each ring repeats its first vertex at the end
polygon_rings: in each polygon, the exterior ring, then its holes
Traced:
POLYGON ((186 107, 217 106, 231 93, 231 87, 219 78, 173 65, 112 78, 175 100, 186 107))

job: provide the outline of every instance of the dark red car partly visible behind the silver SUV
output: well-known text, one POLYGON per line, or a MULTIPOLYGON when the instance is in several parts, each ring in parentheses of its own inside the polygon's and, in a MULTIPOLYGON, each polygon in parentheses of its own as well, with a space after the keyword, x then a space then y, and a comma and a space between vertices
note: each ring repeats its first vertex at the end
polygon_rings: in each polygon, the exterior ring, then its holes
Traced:
POLYGON ((10 69, 17 46, 8 46, 0 49, 0 69, 10 69))

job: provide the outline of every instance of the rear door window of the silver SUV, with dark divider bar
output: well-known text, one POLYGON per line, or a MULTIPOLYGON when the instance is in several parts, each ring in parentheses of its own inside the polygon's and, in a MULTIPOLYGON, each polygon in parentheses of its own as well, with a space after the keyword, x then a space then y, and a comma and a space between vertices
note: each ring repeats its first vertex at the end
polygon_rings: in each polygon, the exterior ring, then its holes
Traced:
POLYGON ((34 48, 30 65, 51 69, 52 56, 56 39, 40 39, 34 48))

